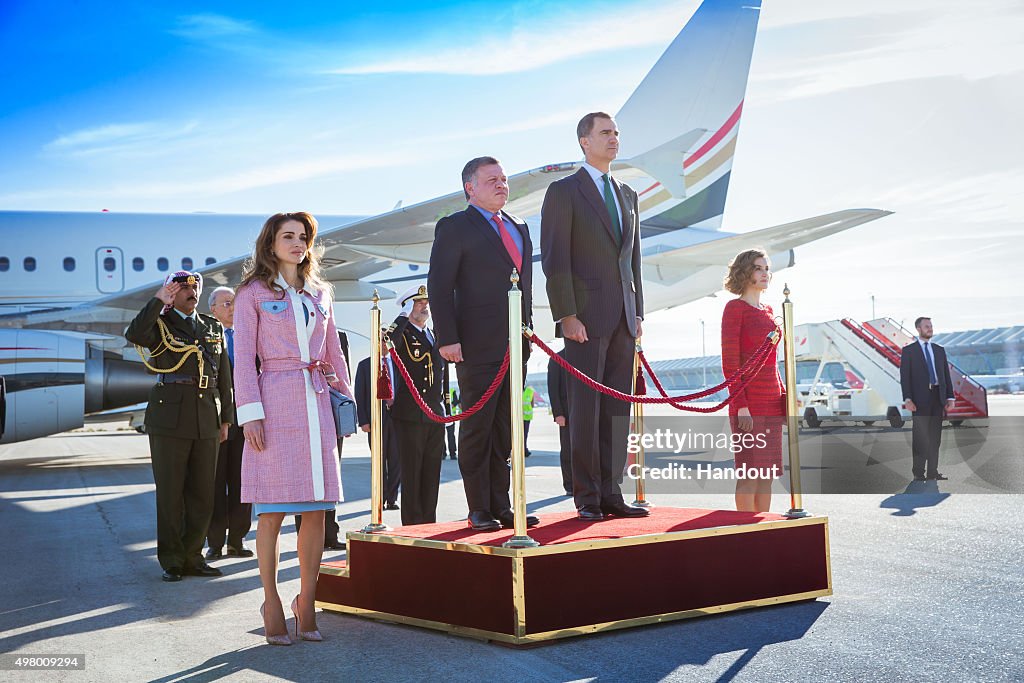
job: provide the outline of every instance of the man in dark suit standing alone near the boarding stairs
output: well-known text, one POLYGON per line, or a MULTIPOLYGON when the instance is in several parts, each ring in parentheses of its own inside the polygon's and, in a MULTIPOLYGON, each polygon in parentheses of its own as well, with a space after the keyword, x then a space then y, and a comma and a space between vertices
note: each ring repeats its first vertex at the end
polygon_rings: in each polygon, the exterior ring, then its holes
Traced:
POLYGON ((913 327, 918 339, 903 347, 899 364, 903 407, 913 413, 913 478, 942 480, 946 478, 939 473, 942 419, 956 398, 946 350, 931 342, 932 318, 919 317, 913 327))

